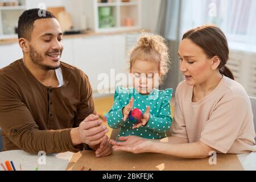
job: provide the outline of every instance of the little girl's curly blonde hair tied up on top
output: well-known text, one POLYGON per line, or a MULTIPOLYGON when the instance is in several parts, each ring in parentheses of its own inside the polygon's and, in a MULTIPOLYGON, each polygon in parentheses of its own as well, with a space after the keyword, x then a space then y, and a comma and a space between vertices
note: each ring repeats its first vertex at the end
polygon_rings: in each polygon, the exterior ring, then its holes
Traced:
POLYGON ((159 84, 163 84, 170 69, 170 56, 167 41, 160 35, 143 33, 137 46, 130 53, 130 71, 136 60, 156 61, 159 65, 159 84))

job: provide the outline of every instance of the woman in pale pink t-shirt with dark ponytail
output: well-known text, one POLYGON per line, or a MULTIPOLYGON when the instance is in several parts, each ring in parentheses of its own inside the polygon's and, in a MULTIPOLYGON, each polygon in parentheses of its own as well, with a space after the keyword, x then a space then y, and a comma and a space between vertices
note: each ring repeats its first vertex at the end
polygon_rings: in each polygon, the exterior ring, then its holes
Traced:
POLYGON ((110 141, 113 150, 181 158, 207 158, 211 151, 256 151, 250 100, 226 67, 229 49, 224 33, 215 26, 189 30, 183 35, 178 53, 185 81, 176 89, 172 137, 120 137, 122 142, 110 141))

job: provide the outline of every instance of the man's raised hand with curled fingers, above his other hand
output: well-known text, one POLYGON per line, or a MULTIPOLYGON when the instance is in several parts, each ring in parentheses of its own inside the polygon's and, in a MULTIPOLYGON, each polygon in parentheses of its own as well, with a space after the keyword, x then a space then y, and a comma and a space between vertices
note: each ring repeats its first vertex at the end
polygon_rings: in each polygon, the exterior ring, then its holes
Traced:
POLYGON ((74 145, 86 143, 89 146, 96 146, 104 140, 108 133, 106 126, 101 126, 102 120, 98 116, 90 114, 84 119, 79 127, 71 130, 71 139, 74 145))

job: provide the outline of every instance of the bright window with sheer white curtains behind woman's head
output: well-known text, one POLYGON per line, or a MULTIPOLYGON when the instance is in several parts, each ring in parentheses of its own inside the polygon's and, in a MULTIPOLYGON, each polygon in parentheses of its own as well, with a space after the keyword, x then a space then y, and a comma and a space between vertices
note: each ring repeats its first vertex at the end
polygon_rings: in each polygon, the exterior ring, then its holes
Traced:
POLYGON ((181 22, 181 34, 213 23, 225 32, 229 44, 256 51, 255 0, 185 0, 181 6, 181 22))

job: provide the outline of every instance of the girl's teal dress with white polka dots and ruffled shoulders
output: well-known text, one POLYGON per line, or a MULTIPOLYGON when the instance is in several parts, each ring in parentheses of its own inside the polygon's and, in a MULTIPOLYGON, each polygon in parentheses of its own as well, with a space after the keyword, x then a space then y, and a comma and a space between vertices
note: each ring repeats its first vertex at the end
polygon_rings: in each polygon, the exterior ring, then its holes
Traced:
POLYGON ((166 131, 170 130, 172 89, 154 89, 149 95, 142 95, 135 88, 117 87, 114 94, 114 104, 108 113, 108 125, 112 129, 119 129, 118 137, 137 135, 148 139, 165 138, 166 131), (133 109, 141 109, 144 113, 150 106, 150 119, 146 126, 132 129, 133 123, 127 119, 123 121, 122 109, 134 98, 133 109))

